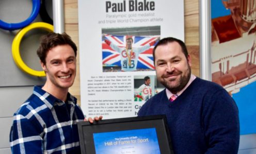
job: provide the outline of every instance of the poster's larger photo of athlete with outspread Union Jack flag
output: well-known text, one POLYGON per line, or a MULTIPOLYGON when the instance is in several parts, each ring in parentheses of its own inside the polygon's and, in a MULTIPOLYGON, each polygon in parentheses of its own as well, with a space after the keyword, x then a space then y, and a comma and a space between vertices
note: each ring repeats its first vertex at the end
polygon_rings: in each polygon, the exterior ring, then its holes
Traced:
POLYGON ((102 29, 103 72, 154 71, 160 26, 102 29))

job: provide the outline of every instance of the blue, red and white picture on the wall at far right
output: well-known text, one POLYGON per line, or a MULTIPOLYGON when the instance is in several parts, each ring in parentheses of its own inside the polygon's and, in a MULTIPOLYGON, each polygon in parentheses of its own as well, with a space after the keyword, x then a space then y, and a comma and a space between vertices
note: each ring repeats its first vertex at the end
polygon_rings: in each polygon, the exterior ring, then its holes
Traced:
POLYGON ((211 1, 212 81, 239 110, 241 134, 256 133, 256 2, 211 1))

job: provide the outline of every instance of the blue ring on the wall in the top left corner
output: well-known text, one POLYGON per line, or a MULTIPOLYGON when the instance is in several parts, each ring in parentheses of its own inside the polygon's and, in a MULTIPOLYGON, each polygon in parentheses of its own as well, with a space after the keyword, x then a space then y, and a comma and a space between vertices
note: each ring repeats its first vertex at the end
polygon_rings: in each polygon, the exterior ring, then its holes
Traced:
POLYGON ((5 30, 16 30, 16 29, 21 29, 29 25, 31 22, 33 22, 39 13, 41 2, 40 0, 32 0, 32 3, 33 3, 33 8, 32 8, 31 14, 25 21, 20 23, 6 23, 0 20, 0 28, 5 30))

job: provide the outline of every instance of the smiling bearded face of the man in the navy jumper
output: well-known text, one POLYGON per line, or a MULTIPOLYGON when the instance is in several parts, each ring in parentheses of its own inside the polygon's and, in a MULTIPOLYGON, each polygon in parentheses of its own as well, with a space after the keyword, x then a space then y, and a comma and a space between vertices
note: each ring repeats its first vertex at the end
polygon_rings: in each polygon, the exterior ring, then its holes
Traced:
POLYGON ((157 80, 172 93, 182 90, 190 79, 190 56, 186 58, 177 42, 160 45, 155 49, 157 80))

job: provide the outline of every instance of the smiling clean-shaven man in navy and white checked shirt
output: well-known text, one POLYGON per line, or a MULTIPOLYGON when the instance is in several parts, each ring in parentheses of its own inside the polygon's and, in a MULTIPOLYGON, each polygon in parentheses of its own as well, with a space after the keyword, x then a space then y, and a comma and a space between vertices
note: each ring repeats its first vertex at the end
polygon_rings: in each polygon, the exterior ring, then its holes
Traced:
MULTIPOLYGON (((42 37, 37 54, 46 74, 44 86, 14 113, 12 153, 81 153, 77 122, 81 108, 69 92, 76 75, 76 45, 66 33, 42 37)), ((94 120, 99 120, 95 118, 94 120)), ((92 121, 92 119, 90 119, 92 121)))

